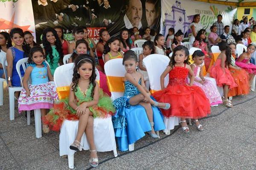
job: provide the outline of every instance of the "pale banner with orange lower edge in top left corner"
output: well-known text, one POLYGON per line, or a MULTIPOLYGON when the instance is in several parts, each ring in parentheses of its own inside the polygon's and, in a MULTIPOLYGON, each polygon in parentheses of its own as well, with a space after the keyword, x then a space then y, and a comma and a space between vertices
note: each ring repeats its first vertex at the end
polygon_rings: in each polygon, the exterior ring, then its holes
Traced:
POLYGON ((35 37, 35 23, 31 0, 0 0, 0 31, 10 32, 19 27, 35 37))

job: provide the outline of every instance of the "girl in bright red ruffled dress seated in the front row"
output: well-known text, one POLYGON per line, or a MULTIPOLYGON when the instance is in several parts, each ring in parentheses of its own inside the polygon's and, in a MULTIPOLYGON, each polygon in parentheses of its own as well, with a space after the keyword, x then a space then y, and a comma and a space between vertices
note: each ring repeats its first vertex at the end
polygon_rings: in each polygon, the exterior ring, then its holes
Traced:
POLYGON ((185 133, 189 133, 186 118, 194 119, 197 129, 204 130, 198 118, 205 117, 211 112, 209 99, 204 91, 198 86, 192 86, 195 76, 188 65, 188 56, 189 51, 186 47, 180 45, 174 48, 169 65, 160 77, 162 90, 152 95, 157 101, 171 104, 168 110, 161 109, 161 111, 167 118, 180 117, 182 130, 185 133), (167 74, 169 74, 169 84, 164 88, 164 78, 167 74), (186 84, 188 74, 189 85, 186 84))

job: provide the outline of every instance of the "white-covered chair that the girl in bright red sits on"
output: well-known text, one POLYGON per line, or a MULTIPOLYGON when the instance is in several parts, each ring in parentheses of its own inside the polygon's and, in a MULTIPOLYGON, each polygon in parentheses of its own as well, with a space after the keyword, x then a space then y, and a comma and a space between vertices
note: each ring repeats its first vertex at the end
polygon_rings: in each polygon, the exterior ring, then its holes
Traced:
MULTIPOLYGON (((167 65, 169 64, 170 59, 165 55, 151 54, 148 57, 144 58, 143 62, 145 63, 146 69, 148 71, 148 78, 151 91, 161 90, 160 76, 166 69, 167 65)), ((167 74, 167 76, 164 79, 165 87, 168 85, 168 82, 169 74, 167 74)), ((180 118, 178 117, 164 117, 164 124, 166 126, 166 129, 163 131, 166 133, 166 135, 169 135, 170 130, 174 129, 176 125, 179 125, 179 122, 180 118)))

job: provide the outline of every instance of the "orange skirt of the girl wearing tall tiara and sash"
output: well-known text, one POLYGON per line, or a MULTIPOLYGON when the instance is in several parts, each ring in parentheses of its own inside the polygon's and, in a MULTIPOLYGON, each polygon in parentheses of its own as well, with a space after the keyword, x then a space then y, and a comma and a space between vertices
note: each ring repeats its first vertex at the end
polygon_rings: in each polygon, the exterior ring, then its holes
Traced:
POLYGON ((242 70, 236 70, 233 68, 229 68, 231 75, 233 76, 237 87, 231 88, 228 92, 228 96, 236 96, 241 94, 249 94, 250 93, 250 79, 248 73, 242 70))

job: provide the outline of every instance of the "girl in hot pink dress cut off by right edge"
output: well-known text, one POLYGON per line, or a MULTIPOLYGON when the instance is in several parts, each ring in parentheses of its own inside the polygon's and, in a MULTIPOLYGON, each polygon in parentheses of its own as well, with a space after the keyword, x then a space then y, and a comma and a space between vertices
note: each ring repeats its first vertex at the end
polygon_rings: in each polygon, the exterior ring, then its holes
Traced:
MULTIPOLYGON (((253 82, 253 78, 256 75, 256 65, 249 63, 250 58, 252 57, 252 54, 254 53, 256 48, 256 43, 251 42, 248 47, 247 51, 242 53, 239 58, 236 60, 236 65, 240 68, 243 68, 249 73, 250 77, 250 85, 253 82)), ((251 87, 251 91, 254 91, 254 89, 251 87)))

